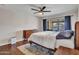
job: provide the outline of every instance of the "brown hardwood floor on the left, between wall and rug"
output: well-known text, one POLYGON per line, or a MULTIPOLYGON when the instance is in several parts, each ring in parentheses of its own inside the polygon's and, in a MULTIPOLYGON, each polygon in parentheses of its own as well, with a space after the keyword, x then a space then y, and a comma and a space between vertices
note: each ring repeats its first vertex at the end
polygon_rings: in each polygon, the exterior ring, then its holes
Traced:
POLYGON ((14 45, 7 44, 0 46, 0 55, 24 55, 19 49, 17 49, 17 47, 27 43, 28 42, 24 40, 17 42, 14 45))

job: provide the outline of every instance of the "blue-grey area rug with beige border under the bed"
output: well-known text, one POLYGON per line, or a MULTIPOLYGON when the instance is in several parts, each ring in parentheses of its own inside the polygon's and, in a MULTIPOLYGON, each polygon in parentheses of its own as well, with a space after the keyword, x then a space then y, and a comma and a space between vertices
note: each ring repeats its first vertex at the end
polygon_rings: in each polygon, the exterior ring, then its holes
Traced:
POLYGON ((25 55, 49 55, 48 50, 37 45, 25 44, 17 47, 25 55))

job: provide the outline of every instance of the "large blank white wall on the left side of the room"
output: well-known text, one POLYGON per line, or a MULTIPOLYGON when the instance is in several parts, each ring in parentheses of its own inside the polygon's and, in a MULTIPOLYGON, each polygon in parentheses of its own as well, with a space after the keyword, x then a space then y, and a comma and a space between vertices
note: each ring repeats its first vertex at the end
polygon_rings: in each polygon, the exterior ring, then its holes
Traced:
POLYGON ((0 45, 10 43, 10 38, 14 36, 17 36, 17 40, 22 40, 21 30, 28 29, 38 29, 38 18, 32 14, 29 6, 0 7, 0 45))

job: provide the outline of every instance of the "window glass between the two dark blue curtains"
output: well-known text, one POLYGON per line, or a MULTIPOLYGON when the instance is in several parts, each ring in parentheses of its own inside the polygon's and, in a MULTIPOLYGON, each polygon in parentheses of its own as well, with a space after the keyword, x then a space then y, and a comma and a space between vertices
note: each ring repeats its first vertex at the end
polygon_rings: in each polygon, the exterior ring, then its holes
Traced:
POLYGON ((53 31, 62 31, 64 30, 64 21, 49 21, 48 22, 48 30, 53 31))

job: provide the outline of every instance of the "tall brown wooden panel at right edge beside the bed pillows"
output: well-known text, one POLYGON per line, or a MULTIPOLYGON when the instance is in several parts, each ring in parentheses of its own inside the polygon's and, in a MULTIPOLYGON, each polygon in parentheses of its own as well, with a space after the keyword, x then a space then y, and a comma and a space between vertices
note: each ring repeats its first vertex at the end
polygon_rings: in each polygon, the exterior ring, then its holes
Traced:
POLYGON ((79 22, 75 24, 75 48, 79 49, 79 22))

